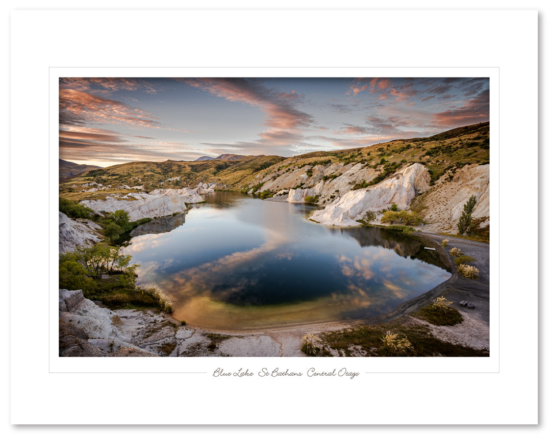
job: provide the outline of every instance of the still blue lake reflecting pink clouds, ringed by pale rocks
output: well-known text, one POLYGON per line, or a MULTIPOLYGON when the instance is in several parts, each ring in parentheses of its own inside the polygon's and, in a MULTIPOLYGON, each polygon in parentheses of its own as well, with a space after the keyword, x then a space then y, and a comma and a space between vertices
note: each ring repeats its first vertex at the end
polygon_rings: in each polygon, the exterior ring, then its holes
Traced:
MULTIPOLYGON (((138 284, 156 283, 174 317, 260 329, 382 315, 451 277, 419 237, 307 220, 314 204, 214 192, 132 231, 138 284)), ((431 246, 431 245, 430 245, 431 246)))

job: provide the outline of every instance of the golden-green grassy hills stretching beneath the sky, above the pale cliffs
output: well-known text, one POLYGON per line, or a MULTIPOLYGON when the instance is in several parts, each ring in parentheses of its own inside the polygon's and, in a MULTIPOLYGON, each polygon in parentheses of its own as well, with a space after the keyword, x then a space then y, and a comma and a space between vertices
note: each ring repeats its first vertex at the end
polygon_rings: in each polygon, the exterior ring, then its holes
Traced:
MULTIPOLYGON (((85 172, 60 184, 60 196, 73 200, 105 198, 108 194, 131 192, 116 186, 155 188, 193 186, 198 182, 216 182, 218 189, 248 190, 259 187, 267 178, 284 172, 330 163, 347 165, 361 163, 377 172, 371 182, 383 180, 397 169, 418 162, 428 167, 431 180, 436 181, 446 171, 451 173, 466 164, 487 164, 490 160, 489 122, 451 129, 426 138, 397 139, 391 142, 337 151, 316 151, 291 158, 279 156, 245 156, 240 160, 206 160, 163 162, 129 162, 85 172), (179 180, 174 180, 180 177, 179 180), (172 180, 169 180, 172 179, 172 180), (95 181, 107 191, 80 192, 83 183, 95 181)), ((361 185, 362 182, 357 182, 361 185)), ((365 182, 364 182, 365 183, 365 182)))

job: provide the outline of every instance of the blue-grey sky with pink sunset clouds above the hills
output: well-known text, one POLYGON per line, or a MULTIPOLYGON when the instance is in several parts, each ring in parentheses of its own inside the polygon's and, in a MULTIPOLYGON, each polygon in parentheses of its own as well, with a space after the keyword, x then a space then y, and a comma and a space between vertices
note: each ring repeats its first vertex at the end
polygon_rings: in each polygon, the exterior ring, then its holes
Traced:
POLYGON ((489 121, 489 78, 60 78, 60 159, 290 157, 489 121))

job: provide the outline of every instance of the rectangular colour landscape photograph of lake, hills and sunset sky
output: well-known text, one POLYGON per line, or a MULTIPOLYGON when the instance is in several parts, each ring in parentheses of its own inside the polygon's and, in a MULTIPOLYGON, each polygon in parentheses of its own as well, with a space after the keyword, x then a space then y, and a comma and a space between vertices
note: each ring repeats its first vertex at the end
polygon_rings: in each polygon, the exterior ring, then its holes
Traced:
POLYGON ((62 77, 60 356, 489 356, 490 80, 62 77))

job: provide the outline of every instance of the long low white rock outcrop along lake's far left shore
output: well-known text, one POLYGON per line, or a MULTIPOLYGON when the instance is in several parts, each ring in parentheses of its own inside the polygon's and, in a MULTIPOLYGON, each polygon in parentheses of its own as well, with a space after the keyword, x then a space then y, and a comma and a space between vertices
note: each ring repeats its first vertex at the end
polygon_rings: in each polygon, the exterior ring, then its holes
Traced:
MULTIPOLYGON (((200 203, 203 198, 196 189, 155 189, 151 193, 129 193, 128 199, 107 197, 105 200, 83 200, 81 203, 94 212, 126 210, 131 221, 154 216, 185 212, 186 203, 200 203)), ((122 197, 121 197, 122 198, 122 197)))

